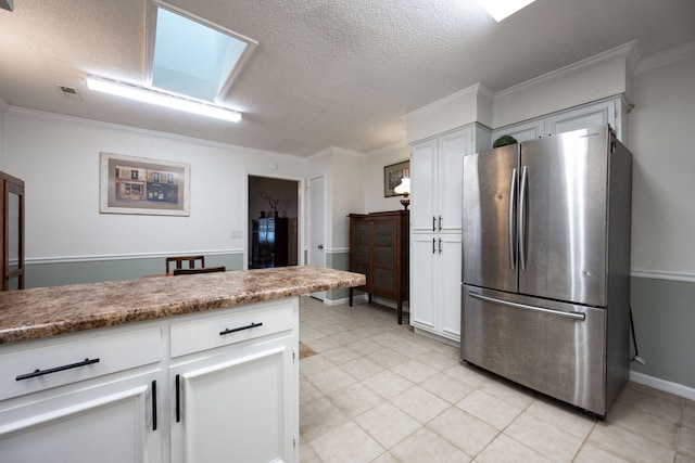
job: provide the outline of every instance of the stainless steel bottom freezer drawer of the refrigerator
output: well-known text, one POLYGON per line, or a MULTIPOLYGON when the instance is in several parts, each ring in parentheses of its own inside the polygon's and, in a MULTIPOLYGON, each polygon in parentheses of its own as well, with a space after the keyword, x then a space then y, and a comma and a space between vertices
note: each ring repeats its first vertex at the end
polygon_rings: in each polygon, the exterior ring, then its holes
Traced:
POLYGON ((462 357, 605 415, 604 309, 463 286, 462 357))

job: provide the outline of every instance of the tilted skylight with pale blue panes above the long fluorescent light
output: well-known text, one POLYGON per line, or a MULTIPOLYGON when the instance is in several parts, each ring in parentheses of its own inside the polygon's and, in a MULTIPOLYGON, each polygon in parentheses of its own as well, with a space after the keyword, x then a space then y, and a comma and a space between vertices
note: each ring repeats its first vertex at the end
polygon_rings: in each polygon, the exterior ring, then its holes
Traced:
POLYGON ((228 90, 255 41, 156 2, 151 86, 210 102, 228 90))

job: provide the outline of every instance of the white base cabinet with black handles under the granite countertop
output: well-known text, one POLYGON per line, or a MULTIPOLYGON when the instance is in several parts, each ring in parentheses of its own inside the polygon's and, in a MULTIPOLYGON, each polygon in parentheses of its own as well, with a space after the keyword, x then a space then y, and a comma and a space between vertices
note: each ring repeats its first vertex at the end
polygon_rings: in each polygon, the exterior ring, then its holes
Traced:
POLYGON ((2 345, 0 461, 296 462, 298 356, 296 297, 2 345))

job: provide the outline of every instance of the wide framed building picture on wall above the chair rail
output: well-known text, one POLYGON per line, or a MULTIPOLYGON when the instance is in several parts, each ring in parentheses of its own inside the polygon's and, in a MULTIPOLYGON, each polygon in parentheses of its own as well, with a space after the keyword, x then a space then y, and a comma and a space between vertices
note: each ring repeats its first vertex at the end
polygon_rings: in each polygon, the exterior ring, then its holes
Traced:
POLYGON ((190 164, 101 153, 99 211, 190 215, 190 164))

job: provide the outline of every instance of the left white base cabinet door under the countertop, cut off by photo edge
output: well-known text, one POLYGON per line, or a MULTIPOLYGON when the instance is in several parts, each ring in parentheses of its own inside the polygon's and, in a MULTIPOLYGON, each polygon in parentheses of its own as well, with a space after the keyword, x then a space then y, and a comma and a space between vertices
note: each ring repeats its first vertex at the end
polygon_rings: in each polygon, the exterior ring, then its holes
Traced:
POLYGON ((51 391, 40 400, 16 399, 22 404, 0 411, 0 461, 161 461, 152 395, 159 378, 152 372, 71 393, 51 391))

